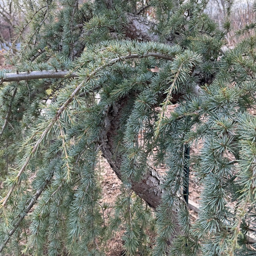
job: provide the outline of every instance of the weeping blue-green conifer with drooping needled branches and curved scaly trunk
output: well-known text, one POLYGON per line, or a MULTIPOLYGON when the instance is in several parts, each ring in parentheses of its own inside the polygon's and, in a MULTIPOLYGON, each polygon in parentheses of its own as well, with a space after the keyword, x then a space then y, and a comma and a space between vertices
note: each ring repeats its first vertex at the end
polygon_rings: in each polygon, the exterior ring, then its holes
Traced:
POLYGON ((38 1, 14 73, 0 75, 0 252, 103 255, 125 227, 126 255, 255 254, 256 38, 221 49, 226 4, 218 29, 204 0, 38 1), (100 154, 123 184, 109 221, 100 154), (188 164, 202 187, 195 223, 188 164))

